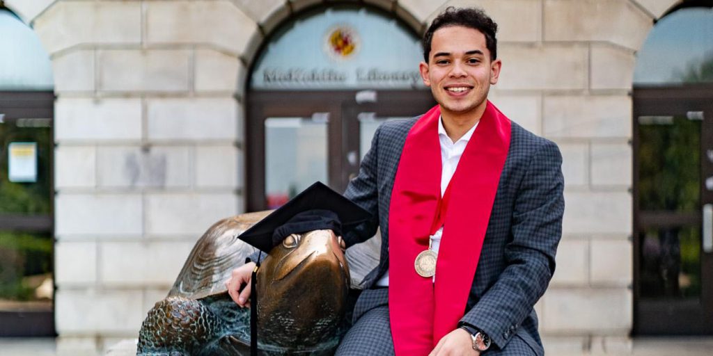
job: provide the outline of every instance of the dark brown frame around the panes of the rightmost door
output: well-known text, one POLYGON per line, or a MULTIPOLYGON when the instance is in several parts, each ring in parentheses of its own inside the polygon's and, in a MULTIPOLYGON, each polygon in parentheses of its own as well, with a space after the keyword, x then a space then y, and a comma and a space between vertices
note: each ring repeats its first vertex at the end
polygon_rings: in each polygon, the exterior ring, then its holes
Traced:
MULTIPOLYGON (((705 253, 701 248, 701 299, 700 303, 682 300, 647 300, 641 297, 640 253, 641 241, 638 231, 647 227, 677 226, 697 224, 702 226, 702 214, 671 216, 642 214, 639 211, 639 162, 640 148, 637 117, 642 115, 677 115, 680 112, 703 111, 701 132, 701 187, 700 199, 703 204, 713 203, 713 192, 704 189, 705 177, 713 176, 713 162, 705 159, 707 147, 713 149, 713 85, 679 85, 668 87, 637 86, 633 90, 633 267, 634 267, 634 308, 633 335, 713 335, 713 253, 705 253), (706 273, 706 271, 709 271, 706 273)), ((701 235, 702 236, 702 235, 701 235)), ((703 236, 702 236, 703 237, 703 236)))

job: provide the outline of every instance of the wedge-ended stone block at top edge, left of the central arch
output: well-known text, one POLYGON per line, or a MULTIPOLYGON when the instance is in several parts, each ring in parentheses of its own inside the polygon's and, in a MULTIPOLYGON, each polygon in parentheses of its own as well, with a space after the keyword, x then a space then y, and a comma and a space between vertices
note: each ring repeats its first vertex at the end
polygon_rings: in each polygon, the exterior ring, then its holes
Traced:
POLYGON ((255 21, 230 1, 149 1, 145 6, 149 45, 210 43, 239 55, 257 31, 255 21))

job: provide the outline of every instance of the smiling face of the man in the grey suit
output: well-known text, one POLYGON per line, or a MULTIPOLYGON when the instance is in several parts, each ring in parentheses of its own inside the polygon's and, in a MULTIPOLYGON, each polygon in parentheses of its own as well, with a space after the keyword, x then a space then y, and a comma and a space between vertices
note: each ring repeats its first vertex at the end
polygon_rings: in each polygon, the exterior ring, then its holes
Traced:
POLYGON ((431 87, 444 117, 480 115, 490 85, 498 83, 501 61, 491 61, 486 36, 474 28, 438 28, 431 41, 429 63, 419 69, 431 87))

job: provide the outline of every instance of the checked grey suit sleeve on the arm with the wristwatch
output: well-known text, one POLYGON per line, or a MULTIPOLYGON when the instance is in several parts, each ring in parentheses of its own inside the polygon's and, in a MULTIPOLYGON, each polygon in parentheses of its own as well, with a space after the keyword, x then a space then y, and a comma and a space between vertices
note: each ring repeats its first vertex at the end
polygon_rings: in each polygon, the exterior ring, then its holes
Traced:
POLYGON ((561 165, 562 155, 553 142, 547 141, 533 155, 515 196, 506 268, 461 319, 483 330, 501 349, 545 293, 555 272, 565 208, 561 165))

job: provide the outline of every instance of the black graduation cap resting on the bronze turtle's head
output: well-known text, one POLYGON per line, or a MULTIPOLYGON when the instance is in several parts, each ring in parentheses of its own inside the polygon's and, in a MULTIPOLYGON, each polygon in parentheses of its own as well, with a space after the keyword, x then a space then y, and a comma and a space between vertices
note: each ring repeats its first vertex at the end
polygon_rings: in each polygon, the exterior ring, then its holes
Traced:
POLYGON ((322 182, 315 182, 238 237, 260 251, 270 252, 289 234, 332 229, 341 235, 369 219, 369 211, 322 182))

